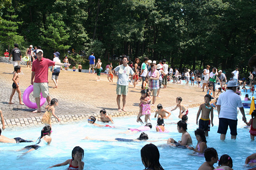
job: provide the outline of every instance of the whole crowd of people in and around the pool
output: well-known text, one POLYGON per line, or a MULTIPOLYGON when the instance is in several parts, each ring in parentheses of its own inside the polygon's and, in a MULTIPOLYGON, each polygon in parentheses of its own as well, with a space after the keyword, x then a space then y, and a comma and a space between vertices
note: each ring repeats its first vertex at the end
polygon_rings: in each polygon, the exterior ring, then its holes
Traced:
MULTIPOLYGON (((52 138, 50 137, 52 133, 52 125, 51 125, 51 117, 54 116, 59 122, 59 118, 55 115, 55 109, 58 106, 58 100, 57 99, 51 99, 49 94, 49 87, 48 87, 48 67, 53 66, 52 68, 52 80, 55 84, 54 88, 58 88, 58 76, 60 73, 60 67, 69 67, 70 64, 68 63, 67 57, 63 60, 64 63, 60 62, 60 53, 55 52, 53 53, 54 59, 53 61, 50 59, 46 59, 43 57, 44 53, 41 49, 37 49, 36 52, 32 50, 33 46, 31 45, 30 48, 27 49, 26 53, 27 56, 30 56, 31 59, 34 59, 32 63, 32 70, 31 70, 31 85, 33 85, 33 96, 36 100, 37 109, 33 111, 41 112, 40 107, 40 93, 42 93, 43 97, 47 100, 47 106, 46 111, 41 119, 41 122, 45 124, 43 129, 41 130, 41 136, 38 137, 38 140, 35 142, 35 144, 28 145, 23 149, 28 149, 27 152, 24 152, 24 154, 31 152, 33 150, 37 150, 38 148, 47 146, 51 143, 52 138), (34 55, 35 54, 35 55, 34 55)), ((18 44, 15 44, 15 48, 12 50, 11 55, 13 56, 13 63, 14 63, 14 76, 13 76, 13 85, 12 85, 12 93, 10 96, 9 104, 12 104, 11 100, 15 93, 15 91, 19 94, 19 102, 20 104, 23 104, 21 101, 21 92, 19 89, 19 73, 21 71, 21 67, 19 66, 19 62, 21 61, 21 52, 18 48, 18 44)), ((11 56, 10 55, 10 56, 11 56)), ((11 59, 11 57, 10 57, 11 59)), ((89 73, 90 69, 94 72, 94 68, 96 68, 97 72, 97 81, 100 81, 100 73, 102 71, 102 62, 101 59, 98 59, 98 62, 95 65, 95 57, 94 53, 91 53, 90 57, 90 67, 89 67, 89 73)), ((126 104, 126 96, 128 94, 128 86, 129 81, 134 81, 133 85, 134 88, 136 88, 137 82, 139 81, 139 78, 142 80, 142 86, 141 86, 141 97, 140 97, 140 103, 139 103, 139 114, 137 116, 137 122, 146 123, 145 126, 140 126, 137 129, 128 129, 129 131, 137 131, 142 132, 140 137, 138 139, 124 139, 124 138, 115 138, 115 140, 111 141, 125 141, 125 142, 132 142, 132 141, 150 141, 154 142, 152 140, 148 140, 148 136, 144 131, 150 130, 152 128, 151 123, 148 123, 150 120, 151 115, 151 106, 154 106, 156 102, 156 97, 159 97, 159 90, 161 85, 163 85, 163 89, 167 88, 168 81, 173 79, 173 83, 181 82, 182 76, 184 76, 184 79, 186 81, 186 85, 188 85, 188 82, 191 81, 191 84, 194 83, 196 80, 197 82, 203 81, 203 91, 206 87, 207 94, 204 96, 204 103, 200 105, 197 116, 196 116, 196 124, 199 124, 199 128, 195 130, 195 136, 197 140, 196 147, 193 148, 192 146, 192 138, 190 134, 187 131, 187 120, 189 116, 188 108, 182 104, 182 98, 178 96, 176 98, 176 107, 173 108, 170 112, 166 111, 162 104, 158 104, 157 108, 158 110, 155 112, 154 117, 157 119, 157 125, 156 125, 156 132, 159 133, 168 133, 169 131, 165 128, 164 119, 169 118, 171 116, 171 112, 179 109, 179 116, 178 118, 181 118, 179 122, 177 122, 177 130, 178 133, 181 133, 181 140, 174 140, 173 138, 169 138, 166 143, 173 147, 179 147, 179 148, 188 148, 190 150, 193 150, 194 152, 198 153, 199 155, 202 155, 205 157, 206 162, 202 164, 202 166, 199 167, 199 170, 213 170, 214 163, 218 162, 218 153, 214 148, 208 148, 207 147, 207 140, 206 137, 209 135, 208 132, 210 131, 210 126, 213 125, 213 106, 210 104, 210 101, 212 99, 215 99, 217 95, 215 95, 216 92, 216 83, 220 83, 221 90, 224 88, 224 91, 218 96, 218 101, 215 103, 216 108, 218 111, 218 119, 219 119, 219 125, 218 125, 218 133, 220 133, 220 140, 226 139, 226 133, 228 127, 230 127, 230 134, 231 139, 236 139, 237 136, 237 108, 240 109, 242 114, 242 121, 244 121, 248 126, 251 126, 250 129, 250 137, 251 140, 255 139, 256 136, 256 110, 252 112, 252 119, 250 119, 249 122, 247 122, 245 118, 245 111, 244 107, 241 101, 241 97, 239 94, 239 89, 237 91, 237 87, 239 83, 239 71, 238 67, 236 70, 232 72, 233 79, 230 81, 227 81, 226 76, 224 73, 222 73, 222 70, 217 70, 215 67, 212 69, 212 72, 210 73, 209 69, 210 66, 207 66, 206 69, 203 70, 202 76, 200 75, 198 70, 195 70, 194 72, 191 72, 189 69, 184 70, 184 74, 178 72, 178 69, 175 68, 175 72, 172 68, 168 68, 168 64, 166 64, 166 59, 163 59, 162 61, 159 61, 158 64, 156 64, 156 61, 151 61, 147 57, 143 58, 143 63, 139 69, 139 59, 135 60, 134 66, 128 65, 129 63, 129 57, 126 55, 122 56, 122 60, 120 62, 120 65, 113 68, 111 64, 109 64, 108 67, 108 80, 113 82, 113 75, 117 77, 117 107, 118 111, 126 111, 125 104, 126 104), (134 69, 133 69, 134 68, 134 69), (110 78, 110 79, 109 79, 110 78), (238 94, 238 95, 237 95, 238 94), (120 99, 122 96, 122 107, 120 104, 120 99), (151 97, 152 96, 152 97, 151 97), (152 103, 151 103, 152 102, 152 103), (168 114, 168 115, 166 115, 168 114), (198 123, 198 118, 201 114, 201 118, 198 123), (145 116, 145 121, 143 122, 141 117, 145 116)), ((27 67, 30 66, 30 62, 27 63, 27 67)), ((255 68, 256 66, 256 55, 252 56, 252 58, 249 60, 249 66, 252 66, 255 68)), ((80 67, 82 69, 82 67, 80 67)), ((253 72, 255 73, 255 72, 253 72)), ((249 76, 250 84, 253 85, 253 78, 255 76, 249 76), (251 80, 252 79, 252 80, 251 80)), ((240 82, 240 85, 243 82, 240 82)), ((254 87, 254 86, 253 86, 254 87)), ((254 91, 254 89, 253 89, 254 91)), ((2 121, 2 129, 5 129, 4 125, 4 118, 2 115, 2 112, 0 111, 0 118, 2 121)), ((105 126, 114 128, 114 126, 106 124, 106 125, 100 125, 95 123, 96 118, 94 116, 90 116, 88 118, 88 123, 93 124, 94 126, 105 126)), ((111 116, 107 114, 105 109, 102 109, 100 111, 100 118, 98 121, 103 123, 114 123, 111 116)), ((1 129, 0 129, 0 142, 4 143, 20 143, 20 142, 34 142, 32 140, 24 140, 20 137, 16 137, 13 139, 4 137, 1 135, 1 129)), ((125 132, 126 133, 126 132, 125 132)), ((89 137, 85 138, 86 140, 98 140, 98 139, 91 139, 89 137)), ((159 141, 159 140, 157 140, 159 141)), ((83 159, 84 151, 80 147, 75 147, 72 151, 72 159, 68 159, 64 163, 59 163, 54 166, 64 166, 68 165, 69 167, 83 170, 84 163, 82 161, 83 159)), ((159 151, 158 148, 154 144, 147 144, 141 149, 141 159, 142 163, 145 166, 145 170, 164 170, 161 164, 159 163, 159 151)), ((246 158, 245 161, 246 164, 249 164, 251 166, 256 165, 256 154, 252 154, 246 158)), ((218 167, 216 167, 216 170, 232 170, 232 159, 229 155, 222 155, 218 167)), ((50 168, 51 168, 50 167, 50 168)))

